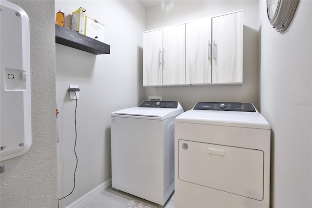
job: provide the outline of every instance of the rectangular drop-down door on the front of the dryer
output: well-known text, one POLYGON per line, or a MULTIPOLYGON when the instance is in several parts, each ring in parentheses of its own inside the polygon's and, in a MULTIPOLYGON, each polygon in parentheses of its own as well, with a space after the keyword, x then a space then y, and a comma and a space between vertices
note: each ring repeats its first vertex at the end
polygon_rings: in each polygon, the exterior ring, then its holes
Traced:
POLYGON ((187 140, 178 145, 180 180, 263 199, 263 151, 187 140))

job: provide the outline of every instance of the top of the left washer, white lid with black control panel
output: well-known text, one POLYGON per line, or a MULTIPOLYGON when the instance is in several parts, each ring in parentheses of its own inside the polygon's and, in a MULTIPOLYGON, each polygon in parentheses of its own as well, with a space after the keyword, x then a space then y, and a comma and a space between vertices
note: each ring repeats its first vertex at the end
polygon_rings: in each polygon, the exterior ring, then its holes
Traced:
POLYGON ((183 108, 176 101, 144 101, 137 107, 115 111, 112 116, 165 120, 181 113, 183 113, 183 108))

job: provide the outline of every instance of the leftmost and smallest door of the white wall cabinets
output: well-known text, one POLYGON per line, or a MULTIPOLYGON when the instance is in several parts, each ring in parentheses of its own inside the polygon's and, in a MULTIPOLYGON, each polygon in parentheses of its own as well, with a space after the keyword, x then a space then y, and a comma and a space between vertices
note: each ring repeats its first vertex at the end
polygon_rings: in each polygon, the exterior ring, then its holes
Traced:
POLYGON ((162 29, 143 33, 143 86, 162 85, 162 29))

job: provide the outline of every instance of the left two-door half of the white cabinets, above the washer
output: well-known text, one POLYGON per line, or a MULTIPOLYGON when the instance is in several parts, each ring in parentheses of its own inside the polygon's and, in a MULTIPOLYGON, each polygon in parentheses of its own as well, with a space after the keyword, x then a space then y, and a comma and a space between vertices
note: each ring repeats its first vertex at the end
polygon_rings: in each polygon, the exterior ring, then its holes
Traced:
POLYGON ((185 84, 185 24, 143 33, 143 86, 185 84))

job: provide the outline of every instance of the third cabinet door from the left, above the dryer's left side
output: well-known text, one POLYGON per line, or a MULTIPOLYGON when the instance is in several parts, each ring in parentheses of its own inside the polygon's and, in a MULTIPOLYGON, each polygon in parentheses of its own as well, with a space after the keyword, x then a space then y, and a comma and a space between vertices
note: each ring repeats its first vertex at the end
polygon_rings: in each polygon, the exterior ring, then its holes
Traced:
POLYGON ((211 83, 211 18, 186 24, 185 83, 211 83))

